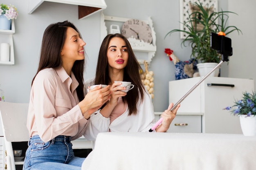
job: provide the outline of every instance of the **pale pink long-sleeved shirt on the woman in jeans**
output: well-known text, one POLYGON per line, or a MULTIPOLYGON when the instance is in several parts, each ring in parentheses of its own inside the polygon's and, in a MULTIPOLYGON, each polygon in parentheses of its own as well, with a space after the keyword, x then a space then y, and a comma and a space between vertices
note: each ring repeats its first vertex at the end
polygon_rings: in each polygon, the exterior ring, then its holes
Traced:
POLYGON ((29 135, 49 141, 58 135, 81 137, 87 120, 83 117, 76 94, 78 82, 64 68, 45 68, 31 87, 27 128, 29 135))

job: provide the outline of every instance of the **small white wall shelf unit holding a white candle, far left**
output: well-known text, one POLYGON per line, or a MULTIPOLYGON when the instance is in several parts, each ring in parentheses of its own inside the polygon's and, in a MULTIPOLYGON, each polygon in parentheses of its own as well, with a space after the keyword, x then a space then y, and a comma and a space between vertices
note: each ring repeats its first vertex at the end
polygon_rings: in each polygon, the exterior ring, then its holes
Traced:
POLYGON ((0 65, 13 65, 14 64, 14 49, 13 49, 13 38, 12 35, 15 33, 15 25, 14 20, 11 20, 11 30, 3 30, 0 29, 0 43, 8 43, 10 44, 10 61, 3 62, 0 61, 0 65))

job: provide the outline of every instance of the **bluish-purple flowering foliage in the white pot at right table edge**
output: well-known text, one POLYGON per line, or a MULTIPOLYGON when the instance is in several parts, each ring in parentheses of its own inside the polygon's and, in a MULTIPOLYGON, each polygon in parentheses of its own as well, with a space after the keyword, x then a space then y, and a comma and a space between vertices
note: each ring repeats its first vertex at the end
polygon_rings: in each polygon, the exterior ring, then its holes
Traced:
POLYGON ((256 115, 256 93, 243 92, 240 100, 235 99, 233 106, 227 106, 223 110, 229 110, 233 115, 256 115))

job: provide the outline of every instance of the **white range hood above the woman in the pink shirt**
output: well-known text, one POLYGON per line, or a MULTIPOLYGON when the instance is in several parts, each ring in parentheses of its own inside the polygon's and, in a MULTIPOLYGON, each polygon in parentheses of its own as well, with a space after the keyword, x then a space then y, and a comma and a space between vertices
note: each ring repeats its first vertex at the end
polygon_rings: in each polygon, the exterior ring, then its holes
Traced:
POLYGON ((29 0, 29 14, 33 13, 43 2, 78 5, 79 19, 86 18, 107 7, 105 0, 29 0))

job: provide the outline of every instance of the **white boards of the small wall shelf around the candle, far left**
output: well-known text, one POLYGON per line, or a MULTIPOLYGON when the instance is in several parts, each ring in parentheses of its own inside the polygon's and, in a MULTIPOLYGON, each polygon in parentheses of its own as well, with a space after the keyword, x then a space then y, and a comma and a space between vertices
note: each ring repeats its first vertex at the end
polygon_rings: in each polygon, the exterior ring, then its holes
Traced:
POLYGON ((11 30, 3 30, 0 29, 0 34, 9 34, 9 44, 10 44, 10 61, 2 62, 0 61, 0 65, 14 65, 14 48, 13 48, 13 34, 15 33, 15 25, 14 20, 11 20, 11 30))

